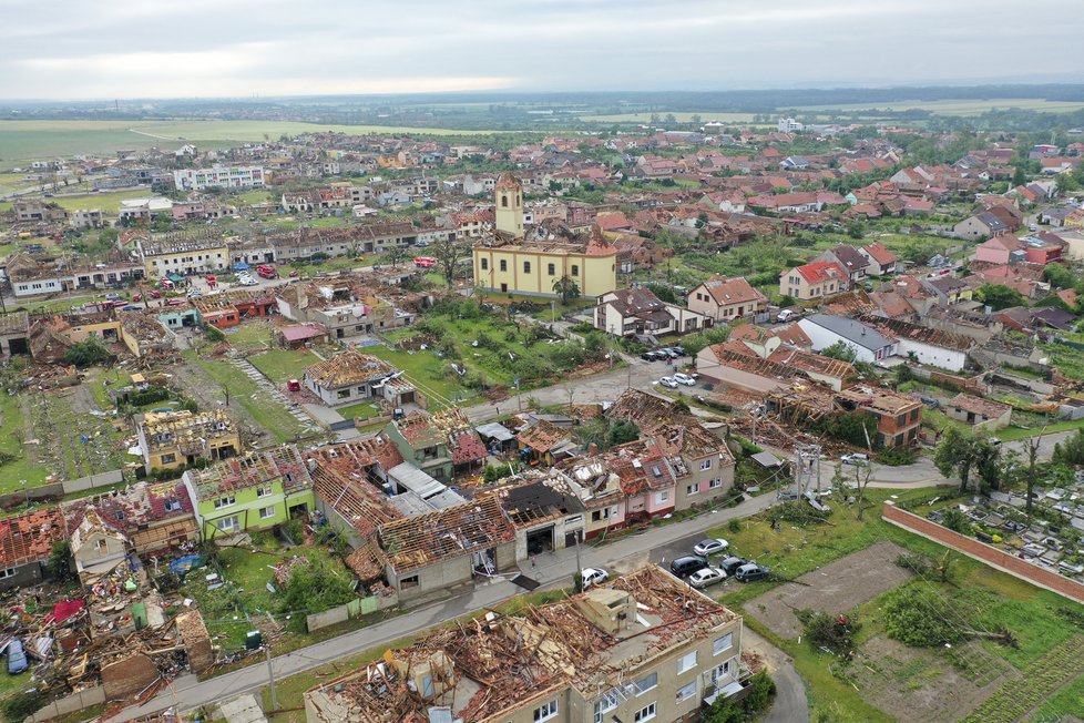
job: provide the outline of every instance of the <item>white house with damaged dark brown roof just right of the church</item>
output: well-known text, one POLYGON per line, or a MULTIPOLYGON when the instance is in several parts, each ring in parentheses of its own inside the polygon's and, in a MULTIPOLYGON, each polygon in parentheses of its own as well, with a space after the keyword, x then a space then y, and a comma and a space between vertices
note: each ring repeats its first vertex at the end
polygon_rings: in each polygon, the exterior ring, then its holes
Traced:
POLYGON ((644 286, 623 288, 599 297, 595 328, 616 336, 689 334, 712 326, 712 319, 658 299, 644 286))

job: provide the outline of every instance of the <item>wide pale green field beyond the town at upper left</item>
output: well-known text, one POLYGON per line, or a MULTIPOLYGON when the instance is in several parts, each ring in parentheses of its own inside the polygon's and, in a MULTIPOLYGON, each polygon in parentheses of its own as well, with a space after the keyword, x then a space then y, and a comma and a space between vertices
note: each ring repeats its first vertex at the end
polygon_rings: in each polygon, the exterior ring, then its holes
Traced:
POLYGON ((184 143, 225 147, 245 142, 277 141, 282 135, 336 133, 418 133, 479 135, 497 131, 456 131, 384 125, 324 125, 292 121, 0 121, 0 162, 104 154, 184 143))

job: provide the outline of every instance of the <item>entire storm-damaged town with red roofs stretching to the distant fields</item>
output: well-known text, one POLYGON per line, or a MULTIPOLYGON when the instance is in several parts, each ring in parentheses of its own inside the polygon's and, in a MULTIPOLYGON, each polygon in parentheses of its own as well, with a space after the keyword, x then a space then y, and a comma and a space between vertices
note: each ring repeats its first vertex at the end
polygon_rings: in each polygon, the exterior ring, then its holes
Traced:
POLYGON ((1084 129, 644 115, 0 162, 4 720, 1084 716, 1084 129))

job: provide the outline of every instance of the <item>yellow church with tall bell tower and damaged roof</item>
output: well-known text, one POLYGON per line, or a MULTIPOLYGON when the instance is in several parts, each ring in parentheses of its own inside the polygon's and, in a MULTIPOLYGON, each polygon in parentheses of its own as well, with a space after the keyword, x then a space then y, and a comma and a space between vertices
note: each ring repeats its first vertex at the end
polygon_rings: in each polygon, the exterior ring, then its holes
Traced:
POLYGON ((580 295, 596 298, 617 288, 617 250, 594 227, 586 237, 524 237, 523 189, 505 173, 495 189, 497 231, 472 250, 474 284, 487 292, 558 297, 567 277, 580 295))

